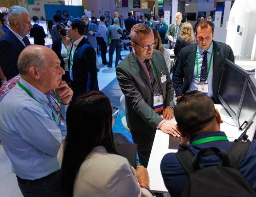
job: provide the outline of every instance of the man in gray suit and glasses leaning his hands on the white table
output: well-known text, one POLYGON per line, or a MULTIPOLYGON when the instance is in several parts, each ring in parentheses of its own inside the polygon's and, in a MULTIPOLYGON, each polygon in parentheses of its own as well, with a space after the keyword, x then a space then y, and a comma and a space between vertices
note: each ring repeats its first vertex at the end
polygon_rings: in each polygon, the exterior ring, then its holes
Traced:
POLYGON ((116 68, 119 86, 125 95, 127 126, 133 142, 138 144, 138 155, 144 167, 148 165, 156 129, 179 137, 176 125, 165 122, 173 118, 173 83, 165 58, 161 51, 153 50, 154 44, 154 35, 148 25, 134 25, 131 28, 134 49, 116 68), (158 110, 160 105, 155 95, 158 90, 159 100, 163 100, 161 110, 158 110))

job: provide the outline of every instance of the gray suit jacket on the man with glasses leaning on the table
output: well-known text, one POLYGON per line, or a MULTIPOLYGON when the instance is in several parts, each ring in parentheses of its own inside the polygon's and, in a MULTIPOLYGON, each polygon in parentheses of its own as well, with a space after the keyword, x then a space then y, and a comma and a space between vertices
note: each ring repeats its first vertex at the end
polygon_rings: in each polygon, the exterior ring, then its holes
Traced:
MULTIPOLYGON (((158 80, 165 100, 165 108, 174 106, 173 83, 165 58, 161 51, 154 50, 152 55, 158 80), (166 76, 161 82, 160 77, 166 76)), ((133 51, 116 68, 119 86, 125 95, 127 126, 131 131, 149 133, 163 120, 153 109, 153 91, 146 72, 133 51)))

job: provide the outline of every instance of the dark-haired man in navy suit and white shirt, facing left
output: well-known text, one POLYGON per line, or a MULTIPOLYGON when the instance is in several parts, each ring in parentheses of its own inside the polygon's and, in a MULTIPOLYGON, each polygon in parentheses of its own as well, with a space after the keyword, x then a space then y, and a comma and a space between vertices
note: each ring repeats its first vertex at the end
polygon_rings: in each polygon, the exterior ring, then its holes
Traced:
POLYGON ((70 86, 74 96, 90 90, 99 90, 97 79, 96 52, 84 37, 85 23, 79 18, 70 18, 67 36, 72 39, 68 66, 70 86))

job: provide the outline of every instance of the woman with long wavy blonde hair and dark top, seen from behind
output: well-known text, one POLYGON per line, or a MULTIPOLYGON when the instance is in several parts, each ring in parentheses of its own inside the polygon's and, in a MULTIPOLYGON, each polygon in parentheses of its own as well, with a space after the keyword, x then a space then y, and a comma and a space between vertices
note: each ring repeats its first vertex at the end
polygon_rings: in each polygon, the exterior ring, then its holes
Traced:
POLYGON ((176 60, 175 65, 173 67, 173 74, 172 74, 173 85, 174 85, 174 80, 175 80, 175 71, 176 71, 176 68, 179 64, 180 50, 183 47, 186 47, 186 46, 188 46, 190 44, 194 44, 194 43, 195 43, 195 38, 194 38, 193 27, 192 27, 191 23, 184 22, 182 24, 180 37, 177 38, 176 44, 175 44, 175 47, 174 47, 174 55, 175 55, 175 58, 177 58, 177 60, 176 60))

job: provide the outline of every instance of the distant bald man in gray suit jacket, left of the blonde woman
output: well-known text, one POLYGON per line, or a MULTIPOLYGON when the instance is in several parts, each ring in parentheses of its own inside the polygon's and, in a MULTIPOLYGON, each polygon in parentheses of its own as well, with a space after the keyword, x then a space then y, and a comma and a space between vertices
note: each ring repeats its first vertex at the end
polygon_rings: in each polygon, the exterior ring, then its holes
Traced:
POLYGON ((166 39, 170 40, 170 49, 174 49, 176 39, 179 37, 182 29, 182 13, 177 12, 175 15, 175 23, 172 23, 166 33, 166 39))

